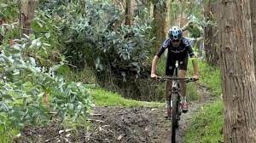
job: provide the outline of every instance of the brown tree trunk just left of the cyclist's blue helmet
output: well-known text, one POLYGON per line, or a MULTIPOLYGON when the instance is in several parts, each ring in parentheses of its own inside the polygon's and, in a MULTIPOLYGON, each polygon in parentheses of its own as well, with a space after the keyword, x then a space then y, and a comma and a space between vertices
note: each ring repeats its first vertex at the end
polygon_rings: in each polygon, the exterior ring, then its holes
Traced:
POLYGON ((156 48, 159 49, 160 43, 166 39, 166 2, 160 4, 158 1, 154 2, 154 34, 156 37, 156 48))

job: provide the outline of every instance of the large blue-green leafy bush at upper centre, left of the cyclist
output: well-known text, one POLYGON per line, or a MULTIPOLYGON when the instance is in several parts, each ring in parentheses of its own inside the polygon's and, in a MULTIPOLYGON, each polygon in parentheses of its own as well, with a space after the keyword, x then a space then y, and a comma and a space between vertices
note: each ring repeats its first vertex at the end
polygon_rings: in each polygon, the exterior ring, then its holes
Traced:
MULTIPOLYGON (((57 2, 56 2, 57 3, 57 2)), ((98 72, 141 72, 148 59, 150 19, 147 9, 137 10, 132 26, 108 1, 79 1, 55 9, 61 17, 62 51, 72 65, 95 67, 98 72), (85 4, 86 3, 86 4, 85 4)))

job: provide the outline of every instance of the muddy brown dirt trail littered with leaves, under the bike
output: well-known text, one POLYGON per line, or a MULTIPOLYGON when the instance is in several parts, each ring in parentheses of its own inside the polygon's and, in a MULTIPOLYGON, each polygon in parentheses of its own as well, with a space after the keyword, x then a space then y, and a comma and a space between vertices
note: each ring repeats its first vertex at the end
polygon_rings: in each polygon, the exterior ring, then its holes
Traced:
MULTIPOLYGON (((191 115, 201 106, 215 100, 205 87, 197 84, 200 99, 189 104, 182 114, 177 130, 177 142, 191 122, 191 115)), ((88 143, 170 143, 171 121, 163 117, 163 107, 95 107, 88 118, 90 128, 65 129, 59 123, 44 128, 25 128, 15 142, 88 142, 88 143)))

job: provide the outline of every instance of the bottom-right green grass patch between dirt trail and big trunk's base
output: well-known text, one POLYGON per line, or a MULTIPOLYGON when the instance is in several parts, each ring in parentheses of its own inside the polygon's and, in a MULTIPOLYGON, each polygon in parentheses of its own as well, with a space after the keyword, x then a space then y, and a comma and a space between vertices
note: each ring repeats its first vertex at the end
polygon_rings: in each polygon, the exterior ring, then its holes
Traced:
POLYGON ((184 142, 216 143, 218 140, 223 140, 223 134, 220 134, 220 128, 223 125, 222 111, 222 100, 203 106, 201 111, 192 117, 184 142))

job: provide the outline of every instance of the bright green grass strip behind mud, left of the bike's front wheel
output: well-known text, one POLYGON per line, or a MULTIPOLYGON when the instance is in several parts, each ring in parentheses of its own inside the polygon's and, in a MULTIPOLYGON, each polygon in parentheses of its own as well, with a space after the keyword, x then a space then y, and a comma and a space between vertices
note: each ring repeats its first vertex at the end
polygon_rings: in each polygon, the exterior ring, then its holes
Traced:
POLYGON ((92 102, 96 106, 164 106, 160 102, 129 100, 106 89, 93 89, 92 102))

